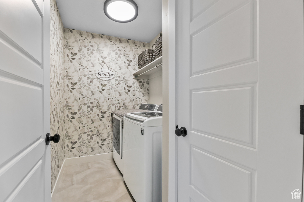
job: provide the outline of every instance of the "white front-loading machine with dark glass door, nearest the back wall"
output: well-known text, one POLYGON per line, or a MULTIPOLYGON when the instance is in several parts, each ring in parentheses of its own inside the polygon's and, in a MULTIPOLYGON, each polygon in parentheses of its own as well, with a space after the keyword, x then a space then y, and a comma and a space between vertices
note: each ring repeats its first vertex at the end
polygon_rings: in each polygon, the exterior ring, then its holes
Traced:
POLYGON ((113 159, 123 174, 123 116, 131 112, 147 112, 156 110, 158 105, 156 104, 141 104, 139 109, 121 109, 112 111, 112 123, 113 123, 113 159))

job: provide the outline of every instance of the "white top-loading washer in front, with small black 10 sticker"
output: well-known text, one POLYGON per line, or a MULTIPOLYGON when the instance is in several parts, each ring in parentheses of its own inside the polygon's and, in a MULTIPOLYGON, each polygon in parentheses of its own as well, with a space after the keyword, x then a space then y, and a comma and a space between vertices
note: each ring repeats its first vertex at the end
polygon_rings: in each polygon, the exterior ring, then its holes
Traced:
POLYGON ((161 202, 162 105, 124 116, 123 178, 136 202, 161 202))

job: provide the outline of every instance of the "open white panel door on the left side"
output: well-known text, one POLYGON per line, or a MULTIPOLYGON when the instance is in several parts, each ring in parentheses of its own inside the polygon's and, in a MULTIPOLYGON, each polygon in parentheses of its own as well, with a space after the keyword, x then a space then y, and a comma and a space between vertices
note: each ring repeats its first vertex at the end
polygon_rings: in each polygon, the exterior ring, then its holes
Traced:
POLYGON ((51 201, 50 2, 0 1, 0 201, 51 201))

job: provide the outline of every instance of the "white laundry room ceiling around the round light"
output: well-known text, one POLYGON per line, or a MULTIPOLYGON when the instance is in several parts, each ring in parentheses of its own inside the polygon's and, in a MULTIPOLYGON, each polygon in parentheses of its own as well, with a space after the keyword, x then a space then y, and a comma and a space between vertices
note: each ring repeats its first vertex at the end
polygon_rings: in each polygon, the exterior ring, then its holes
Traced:
POLYGON ((132 22, 110 20, 105 0, 56 0, 65 28, 150 42, 162 30, 162 0, 134 0, 138 16, 132 22))

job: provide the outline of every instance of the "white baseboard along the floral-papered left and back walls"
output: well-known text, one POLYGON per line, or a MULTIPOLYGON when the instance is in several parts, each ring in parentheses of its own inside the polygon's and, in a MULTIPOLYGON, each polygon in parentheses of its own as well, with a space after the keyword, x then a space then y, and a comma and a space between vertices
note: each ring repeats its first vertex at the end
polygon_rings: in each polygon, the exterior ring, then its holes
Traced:
POLYGON ((64 161, 62 163, 62 166, 61 166, 61 169, 59 171, 56 183, 55 183, 54 188, 53 188, 52 201, 55 200, 55 197, 56 197, 56 194, 57 194, 57 186, 56 185, 57 185, 57 182, 59 182, 61 180, 64 167, 71 166, 71 165, 77 165, 77 164, 81 164, 81 163, 90 163, 90 162, 95 162, 95 161, 109 160, 109 159, 113 159, 113 152, 96 154, 96 155, 91 155, 91 156, 64 159, 64 161))

